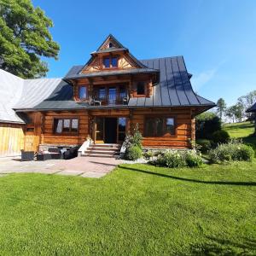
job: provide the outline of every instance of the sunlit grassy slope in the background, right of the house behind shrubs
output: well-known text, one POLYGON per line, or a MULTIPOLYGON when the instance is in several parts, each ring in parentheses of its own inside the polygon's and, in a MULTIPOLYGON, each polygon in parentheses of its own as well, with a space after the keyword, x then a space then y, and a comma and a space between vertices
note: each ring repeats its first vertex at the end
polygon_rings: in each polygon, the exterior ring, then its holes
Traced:
POLYGON ((250 122, 242 122, 236 124, 224 125, 224 130, 229 132, 232 138, 241 138, 244 143, 253 146, 256 152, 256 136, 252 136, 254 132, 254 124, 250 122))

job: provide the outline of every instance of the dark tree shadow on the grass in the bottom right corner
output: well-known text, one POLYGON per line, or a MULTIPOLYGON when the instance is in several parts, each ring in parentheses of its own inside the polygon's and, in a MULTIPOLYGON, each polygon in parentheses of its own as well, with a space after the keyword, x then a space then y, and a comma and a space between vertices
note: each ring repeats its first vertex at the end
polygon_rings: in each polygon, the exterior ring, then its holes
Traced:
POLYGON ((205 244, 193 245, 192 255, 255 255, 256 240, 242 238, 243 242, 235 242, 226 239, 207 236, 209 240, 205 244))

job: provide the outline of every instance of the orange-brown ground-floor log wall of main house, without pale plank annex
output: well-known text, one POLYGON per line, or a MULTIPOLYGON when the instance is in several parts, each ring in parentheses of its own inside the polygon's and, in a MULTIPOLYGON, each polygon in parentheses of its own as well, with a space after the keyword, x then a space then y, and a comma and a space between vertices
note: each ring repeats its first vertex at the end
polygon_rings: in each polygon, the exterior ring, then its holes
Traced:
MULTIPOLYGON (((41 113, 41 118, 34 118, 35 132, 33 144, 79 145, 86 137, 92 137, 92 122, 94 117, 126 117, 127 126, 136 124, 144 134, 145 117, 166 116, 176 121, 176 135, 166 134, 163 137, 144 137, 143 146, 148 148, 190 148, 190 140, 195 139, 195 120, 191 117, 189 108, 137 108, 137 109, 91 109, 79 111, 49 111, 41 113), (53 123, 55 118, 78 118, 79 132, 77 134, 55 134, 53 123), (38 121, 35 121, 38 120, 38 121), (38 122, 38 123, 37 123, 38 122), (42 127, 42 128, 41 128, 42 127)), ((29 134, 26 135, 28 140, 29 134)), ((32 140, 32 138, 30 137, 32 140)))

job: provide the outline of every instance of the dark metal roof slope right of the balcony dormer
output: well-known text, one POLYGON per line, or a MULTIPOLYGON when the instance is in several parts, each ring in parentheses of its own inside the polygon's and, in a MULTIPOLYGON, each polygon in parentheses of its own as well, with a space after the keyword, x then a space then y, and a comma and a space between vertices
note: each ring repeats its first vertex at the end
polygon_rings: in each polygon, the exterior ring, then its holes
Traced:
POLYGON ((192 89, 189 73, 183 56, 167 57, 141 61, 149 68, 160 70, 160 83, 153 87, 150 98, 131 98, 129 106, 162 107, 162 106, 209 106, 215 103, 195 94, 192 89))

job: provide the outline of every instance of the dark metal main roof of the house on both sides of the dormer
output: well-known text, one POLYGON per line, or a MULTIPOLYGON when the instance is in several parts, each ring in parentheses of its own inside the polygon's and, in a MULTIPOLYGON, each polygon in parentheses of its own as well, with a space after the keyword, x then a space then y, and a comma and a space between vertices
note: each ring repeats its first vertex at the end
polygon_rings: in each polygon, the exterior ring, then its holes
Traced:
MULTIPOLYGON (((143 60, 141 62, 143 65, 148 67, 147 70, 150 70, 150 72, 155 72, 156 70, 160 71, 160 82, 153 87, 152 96, 131 98, 128 102, 128 106, 125 106, 125 108, 183 106, 213 108, 215 106, 214 102, 210 102, 207 99, 195 94, 190 84, 189 73, 185 67, 183 56, 143 60)), ((71 77, 82 77, 79 76, 78 73, 83 67, 84 66, 72 67, 72 69, 67 73, 65 79, 71 77)), ((129 72, 131 72, 131 70, 129 72)), ((107 73, 109 74, 110 72, 107 73)), ((99 75, 98 73, 94 74, 99 75)), ((90 73, 90 76, 93 75, 90 73)), ((56 87, 53 93, 46 100, 44 100, 44 102, 39 103, 34 109, 47 110, 115 107, 117 106, 88 107, 86 105, 83 106, 77 102, 74 102, 72 85, 62 81, 56 87)))

